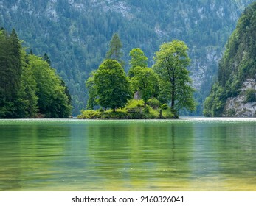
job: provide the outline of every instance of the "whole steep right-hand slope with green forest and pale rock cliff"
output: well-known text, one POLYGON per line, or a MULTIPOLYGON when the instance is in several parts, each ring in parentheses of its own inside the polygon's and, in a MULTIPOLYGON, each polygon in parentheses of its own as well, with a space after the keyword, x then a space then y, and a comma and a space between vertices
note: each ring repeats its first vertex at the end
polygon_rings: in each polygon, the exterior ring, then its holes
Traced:
POLYGON ((256 2, 239 18, 204 106, 206 116, 256 116, 256 2))

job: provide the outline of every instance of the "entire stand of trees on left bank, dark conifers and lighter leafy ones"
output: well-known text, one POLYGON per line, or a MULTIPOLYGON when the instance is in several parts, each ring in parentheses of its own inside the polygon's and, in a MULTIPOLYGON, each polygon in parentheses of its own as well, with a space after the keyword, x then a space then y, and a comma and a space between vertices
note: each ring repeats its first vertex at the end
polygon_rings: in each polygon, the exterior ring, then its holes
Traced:
POLYGON ((0 31, 0 78, 0 118, 71 114, 71 99, 63 80, 41 57, 25 53, 14 29, 10 35, 0 31))

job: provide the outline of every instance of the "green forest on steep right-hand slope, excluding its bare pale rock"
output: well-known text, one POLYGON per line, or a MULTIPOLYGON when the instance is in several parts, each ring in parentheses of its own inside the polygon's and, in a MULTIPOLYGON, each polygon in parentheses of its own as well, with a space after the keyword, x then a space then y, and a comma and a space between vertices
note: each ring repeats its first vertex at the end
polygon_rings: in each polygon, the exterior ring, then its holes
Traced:
MULTIPOLYGON (((204 102, 205 116, 222 116, 226 99, 237 96, 246 79, 256 74, 256 2, 246 8, 226 44, 218 68, 218 81, 204 102)), ((255 90, 246 93, 246 102, 255 99, 255 90)))

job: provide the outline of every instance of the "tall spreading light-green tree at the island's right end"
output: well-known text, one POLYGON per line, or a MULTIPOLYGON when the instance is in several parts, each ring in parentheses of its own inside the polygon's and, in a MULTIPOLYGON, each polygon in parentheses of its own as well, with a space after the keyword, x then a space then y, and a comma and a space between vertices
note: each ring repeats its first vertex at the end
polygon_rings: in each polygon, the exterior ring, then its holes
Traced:
POLYGON ((162 79, 161 90, 165 91, 165 98, 176 116, 181 108, 190 111, 196 109, 192 79, 187 70, 190 64, 187 50, 187 45, 180 40, 163 43, 159 51, 156 51, 156 64, 153 65, 162 79))

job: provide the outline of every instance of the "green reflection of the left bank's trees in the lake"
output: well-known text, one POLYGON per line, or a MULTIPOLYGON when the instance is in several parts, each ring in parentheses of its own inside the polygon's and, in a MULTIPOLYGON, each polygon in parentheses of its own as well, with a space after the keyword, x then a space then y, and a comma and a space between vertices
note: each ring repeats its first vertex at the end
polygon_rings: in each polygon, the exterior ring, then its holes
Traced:
POLYGON ((32 188, 49 178, 55 160, 63 155, 69 127, 20 124, 1 128, 0 182, 3 190, 32 188))

